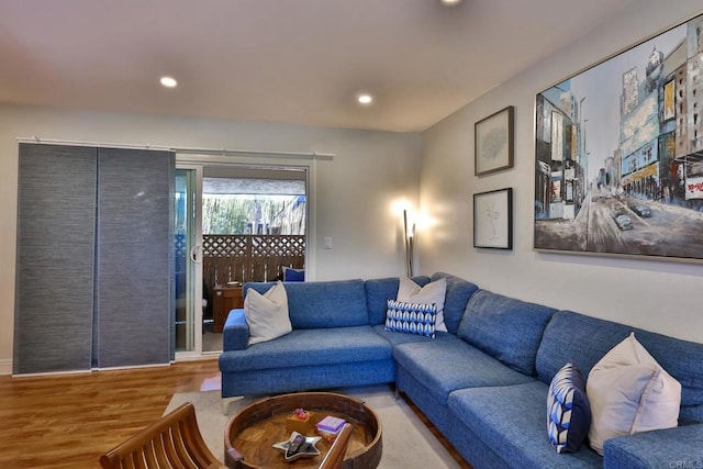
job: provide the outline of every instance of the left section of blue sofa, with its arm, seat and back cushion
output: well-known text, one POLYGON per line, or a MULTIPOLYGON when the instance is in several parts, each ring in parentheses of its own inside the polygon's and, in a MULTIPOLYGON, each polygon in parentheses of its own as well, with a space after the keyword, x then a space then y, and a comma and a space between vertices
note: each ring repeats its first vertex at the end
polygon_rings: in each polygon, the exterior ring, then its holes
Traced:
MULTIPOLYGON (((247 283, 261 293, 271 283, 247 283)), ((293 331, 247 346, 244 310, 224 326, 222 395, 270 394, 393 382, 391 344, 373 332, 364 280, 286 283, 293 331)))

